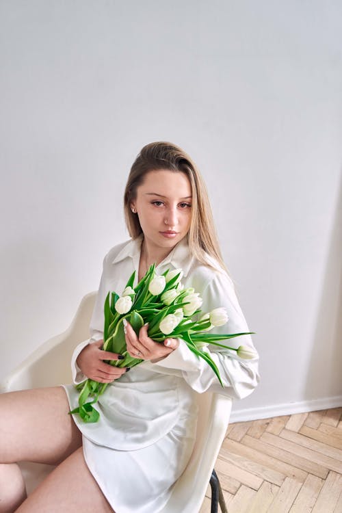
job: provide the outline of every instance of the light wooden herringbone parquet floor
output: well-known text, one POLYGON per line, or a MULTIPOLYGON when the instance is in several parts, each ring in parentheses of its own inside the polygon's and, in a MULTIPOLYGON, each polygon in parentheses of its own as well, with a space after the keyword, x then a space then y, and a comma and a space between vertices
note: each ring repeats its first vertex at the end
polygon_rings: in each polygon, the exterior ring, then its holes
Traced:
POLYGON ((231 424, 215 471, 228 513, 342 513, 342 408, 231 424))

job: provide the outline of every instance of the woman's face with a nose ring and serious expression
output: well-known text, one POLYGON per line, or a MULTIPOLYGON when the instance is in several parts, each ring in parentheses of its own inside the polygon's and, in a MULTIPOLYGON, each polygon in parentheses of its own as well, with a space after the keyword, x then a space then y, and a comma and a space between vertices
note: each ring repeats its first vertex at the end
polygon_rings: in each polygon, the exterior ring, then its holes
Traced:
POLYGON ((131 202, 149 250, 172 249, 190 228, 192 187, 183 172, 149 171, 131 202))

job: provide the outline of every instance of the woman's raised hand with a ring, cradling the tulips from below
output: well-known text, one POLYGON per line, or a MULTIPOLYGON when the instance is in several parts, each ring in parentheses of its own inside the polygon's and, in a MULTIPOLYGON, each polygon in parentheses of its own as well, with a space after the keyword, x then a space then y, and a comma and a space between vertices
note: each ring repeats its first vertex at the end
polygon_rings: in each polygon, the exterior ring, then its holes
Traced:
MULTIPOLYGON (((124 320, 126 321, 126 319, 124 320)), ((179 341, 177 339, 166 339, 164 343, 155 342, 150 339, 147 334, 147 324, 144 324, 140 329, 139 337, 137 337, 129 322, 126 321, 124 324, 127 352, 133 356, 133 358, 151 360, 154 362, 155 360, 165 358, 179 346, 179 341)))

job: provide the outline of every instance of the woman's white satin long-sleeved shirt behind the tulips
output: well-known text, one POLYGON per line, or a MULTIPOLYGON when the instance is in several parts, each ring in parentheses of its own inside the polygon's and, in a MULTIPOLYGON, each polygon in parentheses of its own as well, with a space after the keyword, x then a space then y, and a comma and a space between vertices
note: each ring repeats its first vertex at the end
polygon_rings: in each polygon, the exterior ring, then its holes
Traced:
MULTIPOLYGON (((107 293, 116 291, 120 295, 134 269, 136 285, 141 244, 142 235, 115 246, 105 256, 90 322, 90 339, 79 344, 73 354, 75 383, 86 379, 76 365, 77 356, 88 343, 103 338, 103 305, 107 293)), ((183 269, 182 282, 185 287, 194 287, 200 293, 203 313, 219 306, 226 308, 228 323, 214 328, 214 332, 248 332, 231 278, 215 260, 211 257, 208 259, 215 265, 216 271, 192 257, 185 238, 159 263, 156 272, 162 274, 168 268, 183 269)), ((233 347, 241 344, 254 347, 250 335, 223 343, 233 347)), ((157 363, 145 361, 110 384, 95 405, 101 414, 100 421, 85 424, 75 415, 79 429, 92 443, 120 451, 148 447, 170 433, 176 425, 183 425, 188 434, 193 433, 196 426, 194 393, 211 390, 240 399, 252 393, 259 382, 257 356, 252 360, 243 360, 236 352, 215 345, 209 345, 207 350, 218 366, 224 388, 205 360, 198 358, 180 340, 179 347, 166 358, 157 363)), ((72 385, 66 389, 70 406, 75 408, 78 393, 72 385)))

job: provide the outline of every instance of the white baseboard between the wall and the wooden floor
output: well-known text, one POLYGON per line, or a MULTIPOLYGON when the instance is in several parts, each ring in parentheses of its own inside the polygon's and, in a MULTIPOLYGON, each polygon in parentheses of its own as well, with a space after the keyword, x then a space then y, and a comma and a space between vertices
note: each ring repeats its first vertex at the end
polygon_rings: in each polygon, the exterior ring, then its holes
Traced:
POLYGON ((279 417, 279 415, 293 415, 293 413, 314 412, 317 410, 327 410, 328 408, 339 408, 339 406, 342 406, 342 395, 324 397, 323 399, 311 399, 310 401, 273 404, 270 406, 261 406, 260 408, 237 410, 235 407, 238 404, 239 402, 233 402, 230 423, 269 419, 269 417, 279 417))

